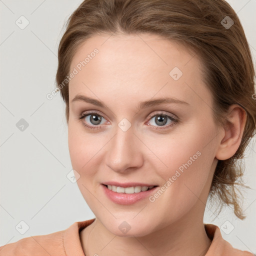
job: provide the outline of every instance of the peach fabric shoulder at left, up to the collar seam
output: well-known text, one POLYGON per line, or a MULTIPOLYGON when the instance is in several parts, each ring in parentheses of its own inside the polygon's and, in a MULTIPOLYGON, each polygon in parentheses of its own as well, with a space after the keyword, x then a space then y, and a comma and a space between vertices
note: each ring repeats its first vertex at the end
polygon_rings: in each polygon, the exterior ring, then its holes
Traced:
POLYGON ((0 246, 0 256, 65 255, 62 241, 63 233, 64 230, 24 237, 16 242, 0 246))

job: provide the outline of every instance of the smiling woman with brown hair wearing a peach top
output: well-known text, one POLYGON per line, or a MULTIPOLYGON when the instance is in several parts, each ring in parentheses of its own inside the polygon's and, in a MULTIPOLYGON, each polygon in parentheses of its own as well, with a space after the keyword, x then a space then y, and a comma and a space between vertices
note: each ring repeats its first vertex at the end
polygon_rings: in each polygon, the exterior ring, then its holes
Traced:
POLYGON ((223 0, 85 0, 58 49, 78 187, 95 218, 0 255, 253 255, 203 223, 243 219, 235 163, 255 134, 254 69, 223 0))

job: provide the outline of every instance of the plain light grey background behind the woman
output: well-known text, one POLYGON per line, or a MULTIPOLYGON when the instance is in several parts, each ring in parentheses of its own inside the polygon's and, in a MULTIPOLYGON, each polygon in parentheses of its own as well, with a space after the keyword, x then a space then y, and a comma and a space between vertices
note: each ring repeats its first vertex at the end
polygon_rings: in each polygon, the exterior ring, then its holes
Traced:
MULTIPOLYGON (((63 100, 59 92, 46 98, 55 88, 63 24, 81 1, 0 0, 0 245, 94 217, 76 183, 66 177, 72 166, 63 100), (15 23, 21 15, 29 21, 24 29, 15 23), (29 124, 23 131, 16 127, 21 118, 29 124), (29 226, 24 234, 26 225, 20 221, 29 226)), ((255 65, 256 0, 228 2, 241 20, 255 65)), ((229 208, 216 217, 208 204, 204 217, 204 222, 222 226, 222 236, 234 247, 254 253, 255 141, 245 155, 244 180, 252 188, 244 192, 247 218, 237 219, 229 208)))

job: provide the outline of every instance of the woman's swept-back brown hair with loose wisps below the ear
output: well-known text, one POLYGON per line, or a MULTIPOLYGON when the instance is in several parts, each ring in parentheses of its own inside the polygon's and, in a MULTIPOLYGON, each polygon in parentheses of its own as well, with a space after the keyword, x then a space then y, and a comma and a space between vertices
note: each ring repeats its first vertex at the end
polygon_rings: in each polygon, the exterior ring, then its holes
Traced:
MULTIPOLYGON (((243 219, 235 185, 243 174, 238 159, 243 158, 255 134, 256 105, 253 99, 255 71, 242 25, 224 0, 85 0, 67 20, 58 47, 56 83, 66 103, 69 117, 68 77, 71 59, 87 38, 99 33, 152 33, 194 49, 203 66, 204 83, 213 96, 216 125, 224 125, 231 104, 246 111, 246 124, 235 154, 218 160, 208 198, 233 205, 234 214, 243 219), (229 16, 226 17, 226 16, 229 16), (227 20, 233 21, 225 27, 227 20)), ((239 192, 239 190, 238 190, 239 192)), ((240 193, 240 192, 239 192, 240 193)), ((241 195, 241 193, 240 193, 241 195)), ((219 213, 218 212, 218 213, 219 213)))

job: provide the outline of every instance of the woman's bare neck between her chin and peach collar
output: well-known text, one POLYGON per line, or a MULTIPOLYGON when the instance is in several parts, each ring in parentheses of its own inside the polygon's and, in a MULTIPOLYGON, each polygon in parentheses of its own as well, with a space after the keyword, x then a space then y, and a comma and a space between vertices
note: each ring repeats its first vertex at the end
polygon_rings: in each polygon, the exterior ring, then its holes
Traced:
POLYGON ((86 256, 205 255, 211 240, 204 229, 204 205, 200 200, 196 204, 179 220, 145 236, 116 236, 96 218, 80 232, 83 251, 86 256))

